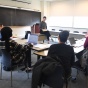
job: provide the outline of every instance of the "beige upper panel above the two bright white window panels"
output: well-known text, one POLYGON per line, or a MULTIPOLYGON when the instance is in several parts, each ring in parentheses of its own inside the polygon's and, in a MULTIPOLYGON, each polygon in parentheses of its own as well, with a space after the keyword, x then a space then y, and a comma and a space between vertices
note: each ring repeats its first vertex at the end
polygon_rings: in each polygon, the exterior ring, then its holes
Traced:
POLYGON ((88 0, 54 1, 50 5, 50 16, 88 16, 88 0))

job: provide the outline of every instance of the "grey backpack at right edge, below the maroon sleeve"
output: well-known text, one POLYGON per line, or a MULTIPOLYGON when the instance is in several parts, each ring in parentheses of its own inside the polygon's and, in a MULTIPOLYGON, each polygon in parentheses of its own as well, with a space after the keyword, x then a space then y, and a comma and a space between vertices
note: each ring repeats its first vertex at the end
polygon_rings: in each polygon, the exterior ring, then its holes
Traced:
POLYGON ((83 51, 83 55, 81 56, 80 60, 80 65, 83 69, 85 69, 86 66, 88 65, 88 49, 85 49, 83 51))

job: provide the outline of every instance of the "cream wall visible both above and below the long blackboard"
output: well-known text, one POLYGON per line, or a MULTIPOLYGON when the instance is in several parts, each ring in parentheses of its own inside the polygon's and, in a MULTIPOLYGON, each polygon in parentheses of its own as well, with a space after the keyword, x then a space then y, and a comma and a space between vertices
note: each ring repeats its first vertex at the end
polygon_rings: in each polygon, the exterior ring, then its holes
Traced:
MULTIPOLYGON (((31 4, 15 2, 11 0, 0 0, 0 5, 12 6, 12 7, 21 7, 25 9, 30 9, 33 11, 41 11, 40 0, 31 0, 31 4)), ((24 37, 25 31, 30 31, 30 26, 10 26, 13 30, 13 36, 24 37)))

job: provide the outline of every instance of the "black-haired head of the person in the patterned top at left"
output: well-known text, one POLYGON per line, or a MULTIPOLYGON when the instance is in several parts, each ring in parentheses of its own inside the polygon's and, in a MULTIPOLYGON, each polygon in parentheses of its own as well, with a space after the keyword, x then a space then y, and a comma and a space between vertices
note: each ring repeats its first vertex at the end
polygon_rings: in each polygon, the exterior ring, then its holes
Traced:
POLYGON ((1 29, 2 40, 9 39, 12 36, 12 29, 10 27, 3 27, 1 29))

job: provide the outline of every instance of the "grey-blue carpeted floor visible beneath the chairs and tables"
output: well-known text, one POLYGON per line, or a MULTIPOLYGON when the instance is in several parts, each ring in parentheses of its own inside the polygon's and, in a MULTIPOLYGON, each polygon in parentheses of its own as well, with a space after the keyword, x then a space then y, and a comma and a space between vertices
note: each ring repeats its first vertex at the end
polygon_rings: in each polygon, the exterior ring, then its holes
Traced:
MULTIPOLYGON (((36 55, 32 55, 32 63, 34 64, 37 59, 36 55)), ((10 81, 11 72, 3 71, 2 80, 0 80, 0 88, 11 88, 10 81)), ((0 76, 1 77, 1 76, 0 76)), ((13 88, 31 88, 32 72, 28 75, 25 71, 13 71, 13 88)), ((76 83, 70 83, 70 88, 87 88, 86 77, 82 72, 79 73, 76 83)), ((48 88, 45 86, 44 88, 48 88)))

